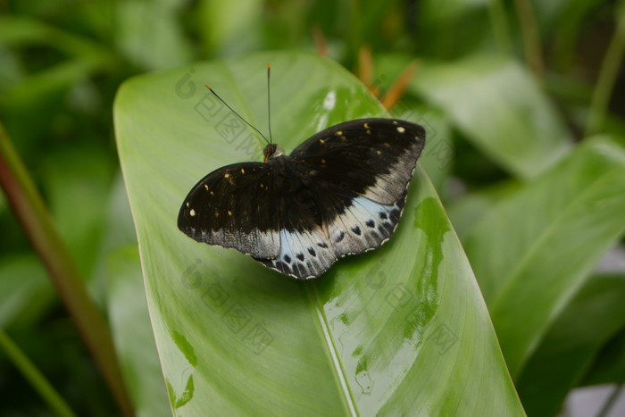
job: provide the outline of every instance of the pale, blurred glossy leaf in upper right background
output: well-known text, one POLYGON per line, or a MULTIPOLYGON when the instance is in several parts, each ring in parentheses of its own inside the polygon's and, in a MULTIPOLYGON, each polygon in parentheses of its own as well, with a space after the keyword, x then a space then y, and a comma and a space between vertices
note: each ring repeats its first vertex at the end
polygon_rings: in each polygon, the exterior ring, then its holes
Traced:
POLYGON ((474 146, 521 179, 537 176, 571 149, 553 104, 512 59, 477 54, 423 62, 410 91, 445 109, 474 146))

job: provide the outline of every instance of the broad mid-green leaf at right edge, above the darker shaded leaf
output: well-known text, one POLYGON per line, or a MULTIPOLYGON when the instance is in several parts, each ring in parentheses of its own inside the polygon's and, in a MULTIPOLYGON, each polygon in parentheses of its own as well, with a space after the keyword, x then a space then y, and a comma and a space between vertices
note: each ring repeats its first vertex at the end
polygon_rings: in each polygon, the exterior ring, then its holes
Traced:
POLYGON ((587 139, 463 239, 513 378, 625 229, 625 150, 587 139))

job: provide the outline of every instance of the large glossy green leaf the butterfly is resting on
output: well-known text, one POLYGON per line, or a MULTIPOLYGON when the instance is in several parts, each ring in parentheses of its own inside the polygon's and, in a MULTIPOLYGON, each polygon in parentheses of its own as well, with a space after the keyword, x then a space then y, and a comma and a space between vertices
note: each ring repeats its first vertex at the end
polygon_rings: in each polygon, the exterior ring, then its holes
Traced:
POLYGON ((122 171, 171 407, 179 415, 520 415, 486 306, 421 165, 396 235, 302 282, 231 249, 198 244, 176 218, 206 173, 274 140, 384 116, 336 63, 257 54, 127 81, 114 106, 122 171))

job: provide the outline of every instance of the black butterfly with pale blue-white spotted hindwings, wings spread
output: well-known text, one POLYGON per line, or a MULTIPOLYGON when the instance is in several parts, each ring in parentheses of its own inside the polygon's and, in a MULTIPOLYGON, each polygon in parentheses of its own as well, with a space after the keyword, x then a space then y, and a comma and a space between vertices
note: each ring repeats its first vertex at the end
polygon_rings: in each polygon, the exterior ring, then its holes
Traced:
POLYGON ((262 163, 234 163, 201 179, 178 227, 296 279, 316 278, 391 237, 423 146, 420 125, 392 119, 339 123, 291 154, 270 143, 262 163))

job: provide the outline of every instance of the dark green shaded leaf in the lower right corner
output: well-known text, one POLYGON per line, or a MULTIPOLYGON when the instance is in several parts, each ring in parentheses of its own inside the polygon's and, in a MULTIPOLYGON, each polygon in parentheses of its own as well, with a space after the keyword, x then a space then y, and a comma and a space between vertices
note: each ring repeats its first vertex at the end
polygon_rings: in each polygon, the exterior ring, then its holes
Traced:
POLYGON ((554 321, 517 381, 529 415, 556 415, 604 344, 625 326, 625 277, 598 275, 554 321))

